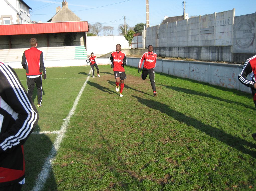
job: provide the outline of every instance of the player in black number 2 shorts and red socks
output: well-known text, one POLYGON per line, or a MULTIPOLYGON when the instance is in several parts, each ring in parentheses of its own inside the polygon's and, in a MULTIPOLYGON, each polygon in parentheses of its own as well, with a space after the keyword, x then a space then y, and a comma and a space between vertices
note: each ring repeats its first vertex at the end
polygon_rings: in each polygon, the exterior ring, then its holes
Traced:
POLYGON ((126 65, 126 55, 121 52, 121 45, 116 45, 116 52, 112 52, 110 56, 111 68, 113 68, 115 75, 115 90, 119 92, 119 83, 121 82, 121 90, 120 97, 123 97, 123 89, 124 89, 124 80, 126 79, 126 74, 124 70, 124 66, 126 65))

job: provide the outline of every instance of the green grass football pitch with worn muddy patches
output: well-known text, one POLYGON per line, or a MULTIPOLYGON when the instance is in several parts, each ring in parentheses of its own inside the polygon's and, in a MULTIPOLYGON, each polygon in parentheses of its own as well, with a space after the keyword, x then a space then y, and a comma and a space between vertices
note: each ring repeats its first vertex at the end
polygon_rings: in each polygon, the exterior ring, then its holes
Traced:
MULTIPOLYGON (((100 78, 90 70, 47 68, 22 190, 256 188, 251 94, 156 73, 153 97, 148 77, 125 67, 119 97, 110 66, 100 78)), ((15 71, 27 88, 25 70, 15 71)))

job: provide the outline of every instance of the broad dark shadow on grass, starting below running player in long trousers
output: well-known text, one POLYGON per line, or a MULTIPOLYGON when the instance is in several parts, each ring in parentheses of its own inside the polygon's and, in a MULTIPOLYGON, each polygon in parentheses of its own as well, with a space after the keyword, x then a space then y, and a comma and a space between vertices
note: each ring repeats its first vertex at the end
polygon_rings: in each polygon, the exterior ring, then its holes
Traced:
POLYGON ((188 117, 182 113, 179 113, 173 109, 170 109, 168 107, 168 105, 166 105, 166 104, 162 104, 162 103, 160 103, 158 101, 154 101, 154 100, 142 99, 137 96, 133 96, 133 97, 136 98, 138 100, 138 102, 140 102, 141 104, 143 104, 149 108, 159 110, 160 112, 165 113, 168 116, 171 116, 174 119, 187 124, 188 126, 192 126, 195 129, 198 129, 199 131, 211 136, 212 138, 217 139, 218 141, 220 141, 230 147, 240 150, 244 154, 251 155, 254 158, 256 157, 255 151, 245 148, 245 146, 250 147, 250 148, 255 148, 255 146, 256 146, 255 144, 249 143, 246 140, 243 140, 241 138, 229 135, 220 129, 214 128, 210 125, 206 125, 196 119, 193 119, 193 118, 188 117))

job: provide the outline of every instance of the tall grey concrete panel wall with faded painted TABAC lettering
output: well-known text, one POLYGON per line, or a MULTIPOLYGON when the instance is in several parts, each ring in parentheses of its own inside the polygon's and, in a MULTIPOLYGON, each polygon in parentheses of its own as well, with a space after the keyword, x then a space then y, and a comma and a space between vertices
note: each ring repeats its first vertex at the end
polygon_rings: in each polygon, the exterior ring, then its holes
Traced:
POLYGON ((245 62, 256 54, 256 13, 235 10, 146 28, 146 43, 158 55, 198 60, 245 62))

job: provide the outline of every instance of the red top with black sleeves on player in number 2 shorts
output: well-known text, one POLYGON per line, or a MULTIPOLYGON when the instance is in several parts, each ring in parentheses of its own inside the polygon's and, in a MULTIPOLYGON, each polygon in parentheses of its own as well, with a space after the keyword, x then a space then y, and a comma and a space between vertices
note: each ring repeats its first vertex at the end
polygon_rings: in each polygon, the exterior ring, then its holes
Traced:
POLYGON ((126 65, 126 55, 123 52, 112 52, 110 61, 112 64, 114 64, 114 72, 125 72, 124 65, 126 65))

